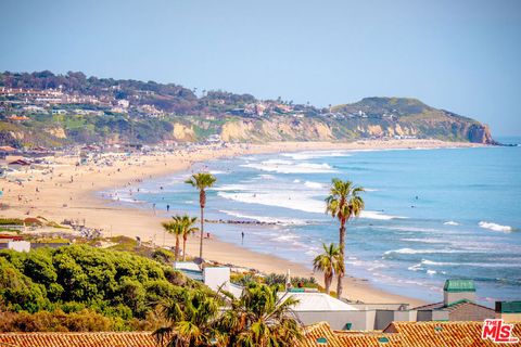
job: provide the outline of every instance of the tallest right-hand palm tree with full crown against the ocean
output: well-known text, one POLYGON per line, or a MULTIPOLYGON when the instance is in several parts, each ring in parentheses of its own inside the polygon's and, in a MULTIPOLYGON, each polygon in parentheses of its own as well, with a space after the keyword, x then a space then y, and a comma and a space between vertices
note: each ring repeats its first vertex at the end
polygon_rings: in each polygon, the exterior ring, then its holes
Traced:
POLYGON ((342 279, 345 274, 345 223, 353 217, 358 217, 364 209, 364 200, 359 195, 364 188, 355 187, 352 181, 342 181, 333 178, 329 196, 326 198, 326 213, 340 221, 339 247, 340 266, 336 273, 336 297, 342 297, 342 279))

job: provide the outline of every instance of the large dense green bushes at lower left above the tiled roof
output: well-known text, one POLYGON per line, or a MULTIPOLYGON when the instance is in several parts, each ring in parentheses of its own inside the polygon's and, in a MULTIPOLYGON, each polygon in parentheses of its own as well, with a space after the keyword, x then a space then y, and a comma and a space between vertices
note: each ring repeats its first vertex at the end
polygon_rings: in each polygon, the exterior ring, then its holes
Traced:
MULTIPOLYGON (((143 320, 179 292, 203 286, 171 267, 125 252, 74 245, 0 252, 0 298, 7 311, 86 309, 124 322, 143 320)), ((60 313, 60 311, 59 311, 60 313)))

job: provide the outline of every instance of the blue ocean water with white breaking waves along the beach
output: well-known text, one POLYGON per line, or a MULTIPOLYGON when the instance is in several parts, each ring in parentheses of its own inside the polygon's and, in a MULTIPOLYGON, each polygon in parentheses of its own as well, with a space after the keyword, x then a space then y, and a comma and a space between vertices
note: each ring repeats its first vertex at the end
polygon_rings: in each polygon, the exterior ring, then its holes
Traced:
MULTIPOLYGON (((448 278, 473 279, 485 304, 521 299, 520 146, 249 155, 200 170, 218 179, 206 218, 277 222, 208 224, 224 241, 241 245, 244 232, 244 247, 310 267, 322 242, 338 242, 339 224, 325 214, 331 178, 348 179, 366 188, 366 210, 347 226, 347 274, 429 301, 448 278)), ((182 182, 190 174, 117 194, 198 216, 199 195, 182 182)))

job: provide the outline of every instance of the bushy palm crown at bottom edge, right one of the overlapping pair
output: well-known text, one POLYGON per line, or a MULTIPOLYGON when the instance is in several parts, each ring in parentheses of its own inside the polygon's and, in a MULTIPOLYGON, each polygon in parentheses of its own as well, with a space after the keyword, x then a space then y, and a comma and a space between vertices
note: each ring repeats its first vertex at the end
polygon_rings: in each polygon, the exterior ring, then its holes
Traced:
POLYGON ((276 286, 250 283, 219 319, 218 330, 228 335, 226 346, 294 346, 303 336, 292 311, 297 303, 279 297, 276 286))

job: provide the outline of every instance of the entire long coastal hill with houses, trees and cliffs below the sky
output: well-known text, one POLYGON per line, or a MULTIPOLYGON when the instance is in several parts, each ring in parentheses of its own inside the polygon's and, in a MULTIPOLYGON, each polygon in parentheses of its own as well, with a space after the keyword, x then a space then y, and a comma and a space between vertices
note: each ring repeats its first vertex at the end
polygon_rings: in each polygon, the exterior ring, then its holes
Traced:
POLYGON ((348 141, 431 138, 494 144, 485 125, 408 98, 316 107, 174 83, 0 73, 0 143, 348 141))

